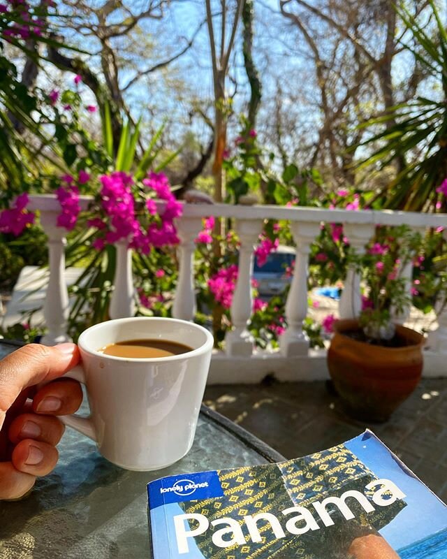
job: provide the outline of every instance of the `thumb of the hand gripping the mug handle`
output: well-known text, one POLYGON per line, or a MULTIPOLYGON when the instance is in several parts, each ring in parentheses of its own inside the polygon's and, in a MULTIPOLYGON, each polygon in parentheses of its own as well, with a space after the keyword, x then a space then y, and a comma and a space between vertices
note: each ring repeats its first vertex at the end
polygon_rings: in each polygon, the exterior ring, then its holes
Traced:
POLYGON ((47 347, 29 344, 0 361, 0 428, 20 392, 39 382, 61 377, 79 361, 75 344, 47 347))

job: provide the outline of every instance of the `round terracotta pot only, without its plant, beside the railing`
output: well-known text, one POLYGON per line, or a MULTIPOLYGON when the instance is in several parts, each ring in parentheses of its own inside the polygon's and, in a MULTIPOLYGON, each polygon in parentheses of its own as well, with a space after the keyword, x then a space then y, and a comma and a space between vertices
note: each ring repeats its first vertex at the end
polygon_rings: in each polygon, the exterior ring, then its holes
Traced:
POLYGON ((332 382, 346 411, 357 419, 386 421, 418 385, 423 369, 423 335, 396 326, 402 347, 381 347, 353 340, 358 321, 335 323, 328 351, 332 382))

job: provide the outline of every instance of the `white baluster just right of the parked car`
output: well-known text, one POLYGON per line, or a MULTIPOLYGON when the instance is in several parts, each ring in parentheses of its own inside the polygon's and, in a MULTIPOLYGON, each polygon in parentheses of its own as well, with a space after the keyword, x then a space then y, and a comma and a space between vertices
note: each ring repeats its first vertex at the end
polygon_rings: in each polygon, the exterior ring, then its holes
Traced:
POLYGON ((281 335, 279 347, 286 357, 307 355, 309 337, 302 331, 302 323, 307 317, 307 267, 310 245, 320 231, 319 224, 291 224, 296 242, 295 269, 291 289, 286 303, 288 328, 281 335))

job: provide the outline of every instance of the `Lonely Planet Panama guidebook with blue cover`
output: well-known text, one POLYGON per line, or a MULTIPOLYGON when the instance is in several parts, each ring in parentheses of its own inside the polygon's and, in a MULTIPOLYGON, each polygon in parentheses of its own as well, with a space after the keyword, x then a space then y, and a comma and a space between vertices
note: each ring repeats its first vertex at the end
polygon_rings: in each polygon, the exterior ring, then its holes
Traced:
POLYGON ((371 431, 147 487, 154 559, 447 559, 447 507, 371 431))

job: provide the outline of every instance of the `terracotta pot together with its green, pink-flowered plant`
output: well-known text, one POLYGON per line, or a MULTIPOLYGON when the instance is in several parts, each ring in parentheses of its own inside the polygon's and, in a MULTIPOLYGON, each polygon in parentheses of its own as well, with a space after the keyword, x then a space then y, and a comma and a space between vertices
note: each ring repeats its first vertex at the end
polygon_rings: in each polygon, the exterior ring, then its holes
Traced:
POLYGON ((395 321, 411 302, 404 270, 419 242, 405 226, 378 228, 364 256, 349 256, 362 273, 362 312, 335 323, 328 368, 357 419, 386 421, 420 380, 424 337, 395 321))

